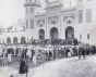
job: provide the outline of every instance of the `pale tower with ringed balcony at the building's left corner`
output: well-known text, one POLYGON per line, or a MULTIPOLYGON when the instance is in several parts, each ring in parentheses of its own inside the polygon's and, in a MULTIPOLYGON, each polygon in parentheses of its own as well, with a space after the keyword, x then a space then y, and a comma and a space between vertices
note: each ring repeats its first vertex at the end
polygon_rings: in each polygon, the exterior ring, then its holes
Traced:
POLYGON ((34 29, 34 16, 38 9, 41 7, 40 0, 26 0, 24 7, 26 29, 34 29))

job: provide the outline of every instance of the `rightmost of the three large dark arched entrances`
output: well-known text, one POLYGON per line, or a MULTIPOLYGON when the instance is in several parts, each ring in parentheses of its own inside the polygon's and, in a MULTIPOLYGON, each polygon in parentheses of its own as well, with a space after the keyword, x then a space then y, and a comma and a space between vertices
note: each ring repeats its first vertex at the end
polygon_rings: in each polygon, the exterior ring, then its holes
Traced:
POLYGON ((65 39, 73 39, 74 38, 74 28, 69 26, 65 29, 65 39))

